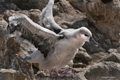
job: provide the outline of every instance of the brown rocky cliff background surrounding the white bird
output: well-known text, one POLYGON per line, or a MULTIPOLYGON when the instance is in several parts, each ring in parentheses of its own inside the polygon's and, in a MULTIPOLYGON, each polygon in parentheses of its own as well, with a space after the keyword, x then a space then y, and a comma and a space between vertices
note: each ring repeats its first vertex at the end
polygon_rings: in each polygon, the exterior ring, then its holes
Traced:
MULTIPOLYGON (((119 11, 117 11, 119 10, 119 1, 117 3, 114 2, 117 0, 108 3, 102 1, 104 0, 86 0, 83 3, 83 0, 55 0, 55 21, 63 28, 79 28, 81 26, 89 28, 100 46, 95 47, 86 43, 84 48, 79 49, 75 59, 68 64, 68 67, 71 67, 73 71, 72 76, 51 78, 48 71, 41 71, 36 76, 39 70, 38 66, 23 60, 24 57, 36 50, 31 43, 19 37, 18 33, 13 35, 6 33, 8 17, 14 14, 26 14, 34 22, 39 23, 40 12, 48 0, 1 0, 0 80, 34 80, 34 78, 37 80, 120 79, 119 11), (81 11, 86 11, 87 16, 85 12, 81 11)), ((60 72, 65 70, 66 68, 63 68, 60 72)))

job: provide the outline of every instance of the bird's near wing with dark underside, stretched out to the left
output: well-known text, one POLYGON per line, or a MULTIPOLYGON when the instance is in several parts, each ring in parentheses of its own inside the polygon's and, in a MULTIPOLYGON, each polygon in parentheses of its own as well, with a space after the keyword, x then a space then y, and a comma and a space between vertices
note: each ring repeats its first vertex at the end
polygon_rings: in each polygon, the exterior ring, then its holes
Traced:
POLYGON ((54 44, 59 37, 58 34, 41 27, 24 14, 9 17, 8 30, 10 32, 20 31, 22 37, 32 42, 44 54, 44 57, 47 57, 50 50, 53 51, 54 44))

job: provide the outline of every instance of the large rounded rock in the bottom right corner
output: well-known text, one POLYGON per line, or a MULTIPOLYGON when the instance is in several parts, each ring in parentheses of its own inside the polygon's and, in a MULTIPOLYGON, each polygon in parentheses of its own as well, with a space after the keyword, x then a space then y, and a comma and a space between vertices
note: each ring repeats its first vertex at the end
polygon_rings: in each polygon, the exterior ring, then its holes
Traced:
POLYGON ((100 62, 90 66, 85 73, 88 80, 119 80, 120 64, 114 62, 100 62))

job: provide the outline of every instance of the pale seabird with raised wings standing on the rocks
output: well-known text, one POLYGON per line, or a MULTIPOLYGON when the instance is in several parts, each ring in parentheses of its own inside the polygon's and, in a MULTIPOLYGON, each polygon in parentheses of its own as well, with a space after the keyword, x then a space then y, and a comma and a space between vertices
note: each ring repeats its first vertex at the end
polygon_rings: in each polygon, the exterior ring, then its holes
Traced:
MULTIPOLYGON (((27 39, 38 48, 25 60, 31 63, 39 63, 40 69, 49 71, 56 69, 57 72, 75 57, 78 48, 83 46, 85 42, 92 41, 95 44, 97 43, 92 38, 91 31, 86 27, 62 29, 54 21, 53 5, 54 0, 49 0, 41 14, 41 23, 51 30, 38 25, 24 14, 17 14, 9 17, 8 31, 10 33, 21 32, 21 37, 27 39), (59 32, 56 32, 56 30, 59 32)), ((59 73, 57 75, 63 76, 59 73)))

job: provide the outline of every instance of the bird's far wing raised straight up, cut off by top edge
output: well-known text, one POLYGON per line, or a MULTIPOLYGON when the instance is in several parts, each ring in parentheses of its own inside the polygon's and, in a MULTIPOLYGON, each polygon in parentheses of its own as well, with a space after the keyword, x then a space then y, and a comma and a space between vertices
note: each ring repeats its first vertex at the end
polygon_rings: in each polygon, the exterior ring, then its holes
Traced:
POLYGON ((55 33, 59 33, 62 28, 55 22, 53 18, 53 6, 54 0, 49 0, 48 4, 40 14, 40 24, 43 24, 46 28, 53 30, 55 33))

